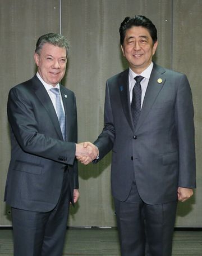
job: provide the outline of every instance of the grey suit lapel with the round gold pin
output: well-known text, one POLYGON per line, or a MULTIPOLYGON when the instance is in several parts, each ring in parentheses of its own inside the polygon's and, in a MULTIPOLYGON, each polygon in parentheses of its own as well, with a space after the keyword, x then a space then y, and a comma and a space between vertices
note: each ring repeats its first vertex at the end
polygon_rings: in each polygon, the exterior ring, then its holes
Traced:
POLYGON ((162 89, 166 78, 164 77, 164 73, 166 70, 154 64, 154 67, 151 72, 151 76, 149 79, 148 87, 146 89, 146 94, 143 101, 143 107, 140 112, 140 117, 137 122, 136 131, 140 128, 144 119, 148 115, 152 105, 158 97, 160 90, 162 89))

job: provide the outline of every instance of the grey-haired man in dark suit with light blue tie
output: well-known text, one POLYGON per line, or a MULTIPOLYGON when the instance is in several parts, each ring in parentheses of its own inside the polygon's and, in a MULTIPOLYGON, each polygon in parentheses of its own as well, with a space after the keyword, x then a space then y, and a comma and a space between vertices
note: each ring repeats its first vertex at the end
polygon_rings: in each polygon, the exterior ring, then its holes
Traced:
POLYGON ((38 72, 10 90, 11 161, 4 200, 11 206, 15 256, 60 256, 70 202, 79 198, 75 156, 95 158, 77 144, 74 92, 61 85, 68 42, 38 39, 38 72))

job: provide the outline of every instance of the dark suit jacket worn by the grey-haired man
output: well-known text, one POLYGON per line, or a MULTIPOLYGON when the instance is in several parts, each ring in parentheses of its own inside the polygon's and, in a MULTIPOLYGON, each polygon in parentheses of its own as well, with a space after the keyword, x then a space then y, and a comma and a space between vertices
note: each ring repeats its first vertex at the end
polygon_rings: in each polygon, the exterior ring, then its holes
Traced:
POLYGON ((79 186, 75 161, 76 100, 72 91, 60 88, 66 114, 66 142, 52 101, 38 77, 10 90, 7 113, 11 161, 4 200, 14 208, 52 210, 61 193, 65 167, 71 193, 79 186))

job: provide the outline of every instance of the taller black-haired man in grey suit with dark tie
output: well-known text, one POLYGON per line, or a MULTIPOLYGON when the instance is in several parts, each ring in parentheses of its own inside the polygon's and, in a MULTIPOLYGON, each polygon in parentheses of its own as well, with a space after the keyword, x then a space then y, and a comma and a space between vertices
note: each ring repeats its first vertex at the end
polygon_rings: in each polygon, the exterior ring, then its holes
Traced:
POLYGON ((94 144, 99 160, 112 149, 122 256, 171 256, 177 200, 195 188, 190 85, 185 74, 153 63, 157 29, 148 18, 126 17, 120 38, 130 68, 107 81, 104 129, 94 144))

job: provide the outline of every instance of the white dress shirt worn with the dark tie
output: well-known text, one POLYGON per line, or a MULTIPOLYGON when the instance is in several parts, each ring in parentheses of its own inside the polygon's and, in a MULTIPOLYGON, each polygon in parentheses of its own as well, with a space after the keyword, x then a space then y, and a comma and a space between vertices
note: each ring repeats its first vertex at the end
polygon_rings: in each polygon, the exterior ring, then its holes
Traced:
POLYGON ((136 83, 135 81, 135 77, 136 76, 142 76, 144 77, 143 80, 141 81, 140 85, 141 85, 141 108, 143 107, 143 100, 144 100, 144 96, 146 93, 146 88, 148 87, 148 83, 149 83, 149 78, 151 75, 151 70, 153 68, 153 62, 151 62, 151 64, 149 65, 148 68, 146 68, 141 74, 136 74, 135 72, 132 71, 131 68, 129 68, 129 92, 130 92, 130 103, 132 102, 132 89, 136 83))

